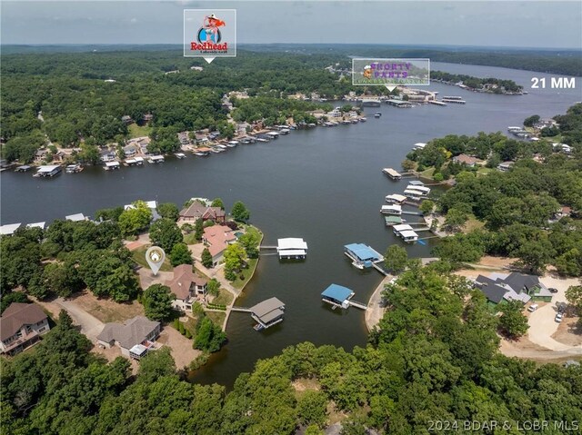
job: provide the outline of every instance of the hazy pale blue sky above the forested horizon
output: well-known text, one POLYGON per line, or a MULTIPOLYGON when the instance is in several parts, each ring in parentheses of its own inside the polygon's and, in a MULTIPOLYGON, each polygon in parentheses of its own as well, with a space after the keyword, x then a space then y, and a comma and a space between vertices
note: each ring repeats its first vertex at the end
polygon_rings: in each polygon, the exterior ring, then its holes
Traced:
POLYGON ((185 8, 236 8, 239 43, 582 48, 582 2, 2 1, 2 44, 181 44, 185 8))

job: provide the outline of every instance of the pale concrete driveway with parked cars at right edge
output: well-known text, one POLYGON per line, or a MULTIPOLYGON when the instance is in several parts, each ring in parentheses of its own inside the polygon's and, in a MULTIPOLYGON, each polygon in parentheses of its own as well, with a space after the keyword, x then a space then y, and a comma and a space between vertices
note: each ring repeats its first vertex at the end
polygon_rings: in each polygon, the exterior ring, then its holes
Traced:
POLYGON ((559 323, 555 321, 557 302, 566 301, 566 291, 571 285, 579 285, 579 279, 561 279, 552 276, 545 276, 540 279, 547 287, 554 287, 557 293, 554 294, 551 303, 541 306, 529 315, 529 330, 527 337, 529 341, 551 351, 564 351, 572 355, 582 355, 582 345, 570 346, 552 338, 557 331, 559 323))

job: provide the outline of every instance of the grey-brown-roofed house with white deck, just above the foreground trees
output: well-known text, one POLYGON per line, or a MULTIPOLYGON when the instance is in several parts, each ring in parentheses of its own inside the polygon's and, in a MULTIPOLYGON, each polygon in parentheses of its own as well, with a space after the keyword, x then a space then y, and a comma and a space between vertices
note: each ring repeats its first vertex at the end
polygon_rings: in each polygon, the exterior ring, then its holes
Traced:
POLYGON ((154 347, 161 329, 159 321, 150 321, 144 316, 135 316, 125 324, 105 323, 103 331, 97 335, 97 345, 104 348, 119 346, 122 355, 139 360, 154 347))

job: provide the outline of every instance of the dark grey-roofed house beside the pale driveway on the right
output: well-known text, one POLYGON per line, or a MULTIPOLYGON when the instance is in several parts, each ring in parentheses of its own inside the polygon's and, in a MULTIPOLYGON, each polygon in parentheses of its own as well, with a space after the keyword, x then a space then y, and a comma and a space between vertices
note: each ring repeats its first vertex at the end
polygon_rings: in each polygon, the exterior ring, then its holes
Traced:
POLYGON ((484 292, 490 305, 504 301, 552 302, 552 293, 535 275, 523 273, 491 273, 488 277, 477 276, 476 287, 484 292))

